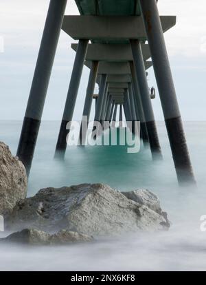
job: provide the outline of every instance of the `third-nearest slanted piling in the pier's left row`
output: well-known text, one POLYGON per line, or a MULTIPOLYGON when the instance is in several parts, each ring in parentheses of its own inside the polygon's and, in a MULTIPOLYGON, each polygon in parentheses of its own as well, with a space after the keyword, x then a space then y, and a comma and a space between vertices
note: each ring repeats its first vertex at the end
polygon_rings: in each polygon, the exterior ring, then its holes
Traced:
MULTIPOLYGON (((88 81, 88 85, 87 85, 87 93, 86 93, 86 98, 85 98, 85 102, 84 102, 83 114, 82 114, 82 117, 83 117, 82 120, 84 120, 85 116, 87 116, 87 127, 88 127, 88 123, 89 123, 91 105, 92 105, 92 101, 93 101, 93 92, 95 89, 95 82, 96 82, 96 79, 98 76, 98 65, 99 65, 98 61, 92 61, 91 70, 90 70, 90 74, 89 74, 89 81, 88 81)), ((86 129, 84 129, 84 131, 86 131, 86 129)), ((82 132, 82 124, 81 124, 80 140, 79 140, 80 145, 85 145, 86 137, 87 137, 87 132, 86 133, 82 132)))

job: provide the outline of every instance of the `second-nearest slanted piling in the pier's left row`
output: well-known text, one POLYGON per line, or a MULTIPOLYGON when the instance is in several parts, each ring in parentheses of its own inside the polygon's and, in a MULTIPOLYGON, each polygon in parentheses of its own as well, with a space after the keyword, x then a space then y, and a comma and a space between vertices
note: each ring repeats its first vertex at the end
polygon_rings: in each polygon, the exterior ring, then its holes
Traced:
POLYGON ((87 54, 88 42, 89 42, 88 40, 80 40, 78 43, 78 50, 76 52, 76 57, 73 64, 73 70, 71 73, 71 80, 69 83, 69 90, 67 93, 65 109, 62 116, 62 123, 60 125, 60 131, 58 134, 58 140, 56 144, 56 151, 55 151, 56 158, 65 157, 65 151, 67 149, 67 135, 69 134, 69 129, 67 129, 67 123, 71 122, 73 117, 73 110, 78 95, 80 79, 82 76, 82 69, 84 66, 85 56, 87 54))

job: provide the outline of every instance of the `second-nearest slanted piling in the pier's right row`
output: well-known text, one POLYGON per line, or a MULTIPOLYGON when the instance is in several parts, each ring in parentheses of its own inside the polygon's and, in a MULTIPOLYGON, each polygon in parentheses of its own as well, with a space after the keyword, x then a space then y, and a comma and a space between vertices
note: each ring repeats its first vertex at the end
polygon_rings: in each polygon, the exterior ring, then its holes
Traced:
POLYGON ((144 108, 144 115, 146 119, 146 126, 148 129, 148 138, 150 148, 152 151, 152 158, 161 158, 161 147, 159 145, 159 138, 157 134, 157 127, 155 124, 155 117, 150 100, 148 81, 146 78, 146 71, 144 67, 144 59, 141 52, 141 45, 139 40, 130 40, 134 65, 137 74, 137 82, 141 95, 142 107, 144 108))

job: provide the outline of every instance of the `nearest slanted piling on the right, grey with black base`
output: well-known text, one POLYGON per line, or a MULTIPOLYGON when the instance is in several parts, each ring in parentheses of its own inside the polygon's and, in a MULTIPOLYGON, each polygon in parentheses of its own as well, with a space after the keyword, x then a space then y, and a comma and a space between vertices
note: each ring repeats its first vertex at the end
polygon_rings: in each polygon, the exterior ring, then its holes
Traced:
POLYGON ((195 178, 187 149, 181 113, 176 98, 176 91, 165 46, 163 29, 155 0, 140 0, 159 96, 165 117, 172 156, 179 183, 192 182, 195 178))

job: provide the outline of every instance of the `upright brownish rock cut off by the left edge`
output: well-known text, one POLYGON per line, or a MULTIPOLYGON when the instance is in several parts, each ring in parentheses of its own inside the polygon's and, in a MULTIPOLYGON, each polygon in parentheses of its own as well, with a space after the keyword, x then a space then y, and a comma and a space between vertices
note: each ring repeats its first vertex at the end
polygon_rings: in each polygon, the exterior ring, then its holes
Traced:
POLYGON ((27 194, 25 167, 10 149, 0 142, 0 215, 11 211, 27 194))

